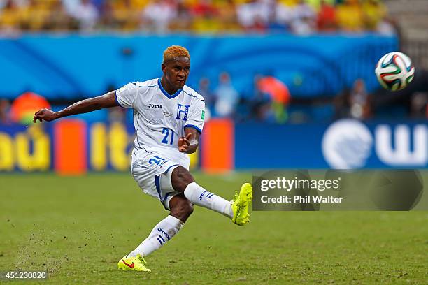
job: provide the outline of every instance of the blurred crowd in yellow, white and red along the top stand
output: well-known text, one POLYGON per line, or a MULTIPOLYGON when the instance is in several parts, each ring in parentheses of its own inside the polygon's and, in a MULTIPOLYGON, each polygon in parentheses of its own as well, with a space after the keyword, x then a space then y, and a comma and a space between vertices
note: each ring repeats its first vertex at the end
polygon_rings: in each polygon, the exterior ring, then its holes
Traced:
POLYGON ((394 33, 380 0, 0 0, 0 30, 394 33))

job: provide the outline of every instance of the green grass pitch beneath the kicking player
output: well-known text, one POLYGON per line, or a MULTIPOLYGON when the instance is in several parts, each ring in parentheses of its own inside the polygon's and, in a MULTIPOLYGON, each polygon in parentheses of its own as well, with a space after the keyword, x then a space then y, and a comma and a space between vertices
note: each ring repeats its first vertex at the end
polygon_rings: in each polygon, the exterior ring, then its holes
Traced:
MULTIPOLYGON (((225 198, 251 179, 194 176, 225 198)), ((167 212, 130 174, 0 175, 0 195, 0 271, 48 270, 41 284, 428 282, 428 212, 252 212, 238 227, 196 207, 141 274, 117 261, 167 212)))

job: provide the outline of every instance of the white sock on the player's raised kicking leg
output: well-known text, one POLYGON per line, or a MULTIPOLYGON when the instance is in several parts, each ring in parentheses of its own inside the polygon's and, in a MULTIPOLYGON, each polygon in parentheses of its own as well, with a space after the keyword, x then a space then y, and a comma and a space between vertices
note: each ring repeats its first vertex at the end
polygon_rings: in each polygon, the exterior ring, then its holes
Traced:
POLYGON ((231 210, 230 201, 206 191, 196 182, 187 185, 184 194, 186 198, 195 205, 214 210, 215 212, 224 214, 224 216, 229 218, 234 216, 234 213, 231 210))

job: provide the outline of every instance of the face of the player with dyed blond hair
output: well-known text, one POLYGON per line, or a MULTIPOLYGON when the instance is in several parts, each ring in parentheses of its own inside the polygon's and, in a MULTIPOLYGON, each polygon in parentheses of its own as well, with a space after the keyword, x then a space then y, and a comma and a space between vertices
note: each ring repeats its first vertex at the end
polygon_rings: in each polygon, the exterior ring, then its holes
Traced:
POLYGON ((165 64, 162 69, 168 83, 174 89, 181 89, 189 76, 190 60, 187 57, 179 57, 177 60, 165 64))

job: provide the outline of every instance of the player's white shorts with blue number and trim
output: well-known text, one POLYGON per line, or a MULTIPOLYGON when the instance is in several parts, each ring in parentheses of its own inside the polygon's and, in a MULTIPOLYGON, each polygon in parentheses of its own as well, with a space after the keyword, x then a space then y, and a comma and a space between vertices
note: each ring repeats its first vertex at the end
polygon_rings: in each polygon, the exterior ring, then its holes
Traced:
POLYGON ((158 152, 139 149, 131 157, 131 173, 144 193, 159 200, 169 210, 169 200, 179 194, 172 187, 171 173, 180 166, 158 152))

